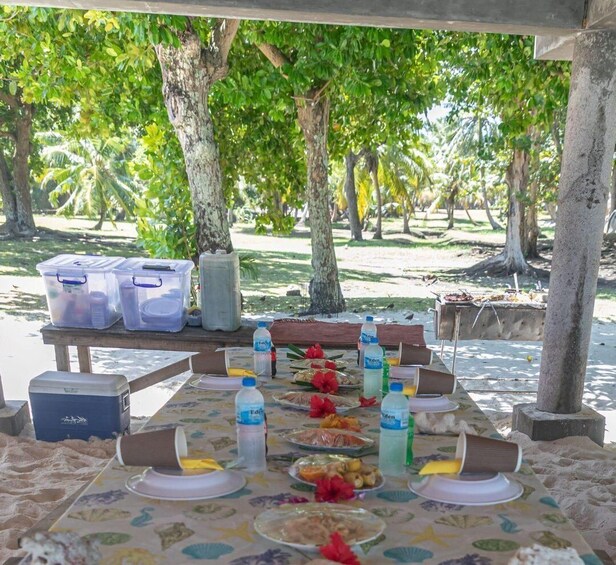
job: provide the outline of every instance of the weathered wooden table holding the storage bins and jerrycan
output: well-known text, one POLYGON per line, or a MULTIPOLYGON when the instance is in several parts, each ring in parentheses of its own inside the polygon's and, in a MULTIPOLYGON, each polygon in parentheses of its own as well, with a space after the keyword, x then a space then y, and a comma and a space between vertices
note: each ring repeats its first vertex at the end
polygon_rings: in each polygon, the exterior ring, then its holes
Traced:
MULTIPOLYGON (((203 328, 186 326, 181 332, 135 332, 128 331, 120 320, 106 330, 82 328, 58 328, 51 324, 41 329, 43 343, 53 345, 56 351, 58 371, 70 371, 69 347, 77 347, 79 371, 92 372, 90 347, 117 349, 151 349, 158 351, 186 351, 202 353, 219 347, 252 345, 255 328, 242 326, 235 332, 207 331, 203 328)), ((188 359, 176 361, 156 371, 134 379, 131 392, 143 390, 160 381, 189 370, 188 359)))

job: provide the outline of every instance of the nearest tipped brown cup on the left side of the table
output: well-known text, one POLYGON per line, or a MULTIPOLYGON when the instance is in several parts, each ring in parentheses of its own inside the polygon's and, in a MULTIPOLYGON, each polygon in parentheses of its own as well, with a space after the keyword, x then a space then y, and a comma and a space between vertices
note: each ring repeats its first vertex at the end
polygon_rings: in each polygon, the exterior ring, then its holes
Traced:
POLYGON ((188 455, 184 428, 120 436, 116 455, 120 465, 182 469, 180 458, 188 455))

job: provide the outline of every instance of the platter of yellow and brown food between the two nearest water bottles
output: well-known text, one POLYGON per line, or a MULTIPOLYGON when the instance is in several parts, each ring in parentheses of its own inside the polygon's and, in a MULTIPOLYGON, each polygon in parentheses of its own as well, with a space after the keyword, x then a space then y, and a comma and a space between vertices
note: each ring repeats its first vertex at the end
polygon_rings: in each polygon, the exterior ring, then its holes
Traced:
POLYGON ((353 484, 358 493, 372 492, 385 484, 383 475, 375 465, 337 453, 301 457, 289 467, 289 475, 301 483, 313 486, 319 479, 338 476, 346 483, 353 484))

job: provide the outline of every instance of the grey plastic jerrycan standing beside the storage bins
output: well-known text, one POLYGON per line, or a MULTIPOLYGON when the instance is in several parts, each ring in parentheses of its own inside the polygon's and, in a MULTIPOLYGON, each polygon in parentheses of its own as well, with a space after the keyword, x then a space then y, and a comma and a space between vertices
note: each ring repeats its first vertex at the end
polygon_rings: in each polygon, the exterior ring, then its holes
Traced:
POLYGON ((206 330, 234 332, 241 324, 240 260, 217 251, 199 258, 201 323, 206 330))

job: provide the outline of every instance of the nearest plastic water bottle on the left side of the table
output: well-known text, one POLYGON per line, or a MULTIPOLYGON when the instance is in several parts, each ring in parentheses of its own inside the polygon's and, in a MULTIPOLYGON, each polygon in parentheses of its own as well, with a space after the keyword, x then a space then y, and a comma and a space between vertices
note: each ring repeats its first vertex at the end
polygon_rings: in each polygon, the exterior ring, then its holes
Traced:
POLYGON ((265 402, 256 386, 254 377, 244 377, 242 388, 235 395, 237 455, 244 460, 248 472, 266 469, 265 402))

